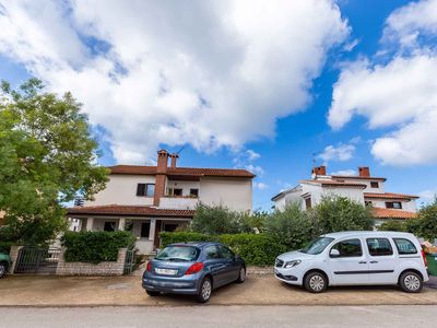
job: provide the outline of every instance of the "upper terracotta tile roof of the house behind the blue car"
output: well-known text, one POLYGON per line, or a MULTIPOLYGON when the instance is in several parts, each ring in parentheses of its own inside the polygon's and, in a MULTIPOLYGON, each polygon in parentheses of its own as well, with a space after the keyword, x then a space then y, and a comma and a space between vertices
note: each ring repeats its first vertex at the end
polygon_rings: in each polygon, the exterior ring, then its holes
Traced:
MULTIPOLYGON (((156 174, 156 166, 115 165, 109 166, 108 168, 113 174, 156 174)), ((187 176, 255 177, 252 173, 240 168, 168 167, 167 174, 187 176)))

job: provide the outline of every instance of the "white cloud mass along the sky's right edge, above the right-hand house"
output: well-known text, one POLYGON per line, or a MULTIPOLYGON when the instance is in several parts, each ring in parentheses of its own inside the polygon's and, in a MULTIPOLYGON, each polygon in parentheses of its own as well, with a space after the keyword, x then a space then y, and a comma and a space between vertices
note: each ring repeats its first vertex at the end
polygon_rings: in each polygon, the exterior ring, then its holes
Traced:
POLYGON ((437 52, 416 42, 408 44, 410 52, 403 52, 411 33, 417 37, 437 28, 437 20, 427 12, 432 7, 437 12, 437 1, 397 10, 387 21, 385 38, 399 40, 399 54, 385 65, 352 62, 334 85, 328 116, 332 128, 340 129, 359 115, 368 119, 370 129, 391 130, 371 144, 371 153, 382 164, 437 162, 437 52))

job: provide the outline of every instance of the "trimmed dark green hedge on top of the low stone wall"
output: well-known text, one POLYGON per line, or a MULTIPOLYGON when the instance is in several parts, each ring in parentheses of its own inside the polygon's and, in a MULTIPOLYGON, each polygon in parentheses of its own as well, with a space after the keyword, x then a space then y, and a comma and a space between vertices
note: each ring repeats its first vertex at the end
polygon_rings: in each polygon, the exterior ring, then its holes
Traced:
POLYGON ((118 249, 133 246, 130 232, 66 232, 61 245, 66 247, 67 262, 99 263, 117 261, 118 249))

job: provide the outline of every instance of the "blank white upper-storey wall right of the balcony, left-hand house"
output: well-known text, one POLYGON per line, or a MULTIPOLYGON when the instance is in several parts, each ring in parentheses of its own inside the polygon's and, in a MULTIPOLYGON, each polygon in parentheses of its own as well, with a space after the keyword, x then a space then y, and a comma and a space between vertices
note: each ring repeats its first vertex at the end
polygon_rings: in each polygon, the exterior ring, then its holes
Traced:
POLYGON ((203 177, 199 200, 209 206, 225 206, 235 211, 251 211, 252 180, 250 178, 203 177))

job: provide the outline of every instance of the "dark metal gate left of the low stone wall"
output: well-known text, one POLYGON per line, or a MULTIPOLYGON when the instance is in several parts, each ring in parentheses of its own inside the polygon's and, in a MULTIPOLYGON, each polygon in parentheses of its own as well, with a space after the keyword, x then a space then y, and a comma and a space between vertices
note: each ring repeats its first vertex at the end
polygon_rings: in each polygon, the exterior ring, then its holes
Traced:
POLYGON ((59 255, 58 248, 23 247, 19 251, 15 273, 55 274, 59 255))

